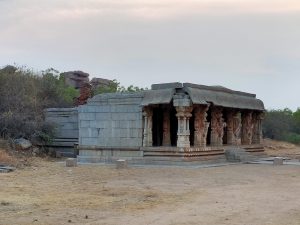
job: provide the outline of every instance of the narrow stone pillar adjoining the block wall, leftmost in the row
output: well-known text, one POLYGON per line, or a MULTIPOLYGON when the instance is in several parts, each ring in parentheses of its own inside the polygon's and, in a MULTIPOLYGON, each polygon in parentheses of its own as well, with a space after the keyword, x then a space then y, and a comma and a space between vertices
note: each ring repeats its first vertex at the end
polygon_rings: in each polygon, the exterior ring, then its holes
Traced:
POLYGON ((144 116, 144 135, 143 135, 143 146, 152 147, 152 115, 153 110, 149 107, 145 107, 143 111, 144 116))

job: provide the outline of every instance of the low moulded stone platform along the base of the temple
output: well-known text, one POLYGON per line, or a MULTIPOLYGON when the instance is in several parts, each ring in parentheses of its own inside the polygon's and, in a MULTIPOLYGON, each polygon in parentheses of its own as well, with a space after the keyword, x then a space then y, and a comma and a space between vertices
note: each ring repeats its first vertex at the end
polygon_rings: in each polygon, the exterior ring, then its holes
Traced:
MULTIPOLYGON (((175 162, 226 162, 225 151, 235 149, 235 146, 220 146, 206 148, 178 147, 141 147, 141 148, 79 148, 78 162, 82 163, 112 163, 118 159, 126 159, 128 163, 166 163, 175 162)), ((243 146, 248 155, 260 156, 263 146, 243 146)))

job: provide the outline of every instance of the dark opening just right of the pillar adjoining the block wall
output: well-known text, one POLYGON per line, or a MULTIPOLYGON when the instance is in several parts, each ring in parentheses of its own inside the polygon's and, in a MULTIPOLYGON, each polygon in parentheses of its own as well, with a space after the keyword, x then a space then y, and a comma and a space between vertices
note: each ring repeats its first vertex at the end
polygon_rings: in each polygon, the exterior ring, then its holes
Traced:
POLYGON ((163 110, 161 107, 153 108, 153 146, 162 146, 163 140, 163 110))

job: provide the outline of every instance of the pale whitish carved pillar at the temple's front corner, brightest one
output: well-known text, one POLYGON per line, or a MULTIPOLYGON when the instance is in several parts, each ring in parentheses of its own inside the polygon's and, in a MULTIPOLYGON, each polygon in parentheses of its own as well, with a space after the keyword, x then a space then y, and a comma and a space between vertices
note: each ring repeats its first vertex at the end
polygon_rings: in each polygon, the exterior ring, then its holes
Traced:
POLYGON ((192 117, 192 107, 178 106, 176 107, 178 118, 178 131, 177 131, 177 147, 185 148, 190 147, 190 118, 192 117))

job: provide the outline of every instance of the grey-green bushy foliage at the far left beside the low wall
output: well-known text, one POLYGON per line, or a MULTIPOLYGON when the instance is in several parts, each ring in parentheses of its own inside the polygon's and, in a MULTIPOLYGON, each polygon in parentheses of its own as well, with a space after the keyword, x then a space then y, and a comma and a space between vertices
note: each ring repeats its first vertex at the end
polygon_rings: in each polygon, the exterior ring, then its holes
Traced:
POLYGON ((51 125, 43 109, 72 106, 78 90, 66 86, 54 69, 34 73, 26 68, 0 69, 0 134, 47 139, 51 125))

